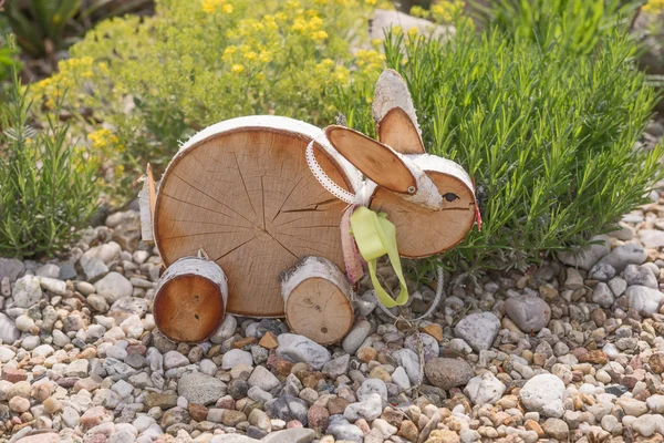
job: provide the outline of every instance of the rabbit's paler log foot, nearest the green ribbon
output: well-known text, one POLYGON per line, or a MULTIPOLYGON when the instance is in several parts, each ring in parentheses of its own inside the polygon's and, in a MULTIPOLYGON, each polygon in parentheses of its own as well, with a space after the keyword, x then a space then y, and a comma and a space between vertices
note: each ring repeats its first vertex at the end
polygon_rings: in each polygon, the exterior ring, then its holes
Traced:
POLYGON ((345 275, 322 257, 304 258, 281 279, 288 324, 320 344, 340 341, 353 326, 351 293, 345 275))

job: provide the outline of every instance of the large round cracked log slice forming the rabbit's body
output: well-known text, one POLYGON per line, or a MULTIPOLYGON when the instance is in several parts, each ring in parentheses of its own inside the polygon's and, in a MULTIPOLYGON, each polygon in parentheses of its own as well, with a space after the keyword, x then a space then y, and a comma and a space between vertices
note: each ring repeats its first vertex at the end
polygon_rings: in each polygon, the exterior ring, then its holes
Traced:
POLYGON ((154 235, 166 265, 204 249, 228 277, 228 312, 282 317, 279 275, 310 255, 343 266, 345 203, 314 178, 311 140, 325 174, 355 193, 357 172, 295 120, 251 116, 210 126, 187 142, 164 173, 154 235))

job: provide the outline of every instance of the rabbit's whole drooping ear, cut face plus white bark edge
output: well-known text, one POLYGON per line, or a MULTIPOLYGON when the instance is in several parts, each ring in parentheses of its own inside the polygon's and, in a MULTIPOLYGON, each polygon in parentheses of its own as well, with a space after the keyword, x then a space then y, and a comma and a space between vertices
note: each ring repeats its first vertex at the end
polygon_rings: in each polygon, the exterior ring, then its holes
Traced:
POLYGON ((369 179, 398 197, 430 209, 439 209, 443 197, 424 171, 392 147, 343 126, 328 126, 332 146, 369 179))

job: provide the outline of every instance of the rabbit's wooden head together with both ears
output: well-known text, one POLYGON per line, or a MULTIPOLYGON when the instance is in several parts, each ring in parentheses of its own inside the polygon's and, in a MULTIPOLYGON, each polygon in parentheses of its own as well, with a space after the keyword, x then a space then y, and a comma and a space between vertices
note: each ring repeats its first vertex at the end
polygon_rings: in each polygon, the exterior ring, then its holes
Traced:
POLYGON ((402 255, 426 257, 452 248, 476 220, 470 177, 455 162, 426 154, 411 94, 393 70, 378 79, 373 116, 378 141, 339 125, 328 126, 325 135, 366 176, 366 203, 395 224, 402 255), (418 229, 436 236, 413 235, 418 229))

